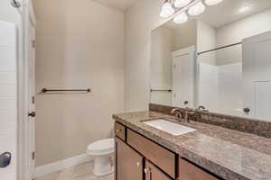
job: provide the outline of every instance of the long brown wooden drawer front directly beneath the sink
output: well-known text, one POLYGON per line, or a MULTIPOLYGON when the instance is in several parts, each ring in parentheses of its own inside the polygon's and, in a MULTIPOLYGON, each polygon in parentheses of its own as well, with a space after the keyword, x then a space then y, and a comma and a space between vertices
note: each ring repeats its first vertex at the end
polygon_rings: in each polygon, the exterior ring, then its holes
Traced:
POLYGON ((154 165, 159 166, 166 174, 176 178, 173 152, 129 129, 127 129, 127 143, 152 161, 154 165))

